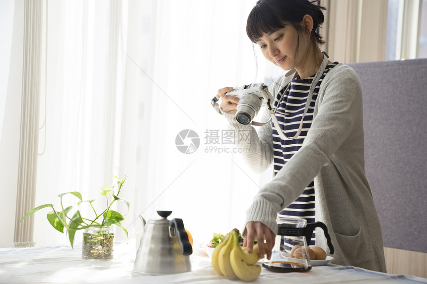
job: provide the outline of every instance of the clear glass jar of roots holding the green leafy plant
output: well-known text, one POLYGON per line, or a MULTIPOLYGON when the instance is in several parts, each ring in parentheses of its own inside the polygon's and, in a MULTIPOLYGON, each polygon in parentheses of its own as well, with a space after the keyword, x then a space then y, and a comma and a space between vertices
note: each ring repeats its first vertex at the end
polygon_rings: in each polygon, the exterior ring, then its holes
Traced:
POLYGON ((88 227, 83 229, 81 257, 87 259, 113 259, 114 227, 88 227))

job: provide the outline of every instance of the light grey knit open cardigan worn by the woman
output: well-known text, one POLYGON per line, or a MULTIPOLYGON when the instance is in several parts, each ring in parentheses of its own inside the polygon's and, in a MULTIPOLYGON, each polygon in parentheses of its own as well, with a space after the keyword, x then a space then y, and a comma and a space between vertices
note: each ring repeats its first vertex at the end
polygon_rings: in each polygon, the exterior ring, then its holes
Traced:
MULTIPOLYGON (((273 83, 272 95, 290 79, 283 76, 273 83)), ((251 131, 250 142, 236 145, 249 148, 242 151, 245 161, 255 172, 267 170, 273 162, 272 123, 256 131, 238 123, 234 115, 224 115, 231 129, 251 131)), ((333 263, 386 272, 381 228, 364 172, 361 87, 354 70, 343 63, 324 77, 302 147, 255 195, 246 223, 259 221, 276 233, 277 213, 313 179, 316 221, 328 227, 335 248, 333 263)), ((316 229, 316 245, 328 247, 321 228, 316 229)))

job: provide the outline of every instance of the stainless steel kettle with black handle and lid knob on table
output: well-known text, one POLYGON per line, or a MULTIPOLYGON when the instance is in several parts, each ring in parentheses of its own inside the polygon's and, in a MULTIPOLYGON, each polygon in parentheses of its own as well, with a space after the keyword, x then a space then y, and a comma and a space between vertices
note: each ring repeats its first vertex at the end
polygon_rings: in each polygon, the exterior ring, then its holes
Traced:
POLYGON ((172 211, 157 211, 160 220, 146 222, 134 271, 142 274, 171 274, 191 271, 193 249, 182 219, 168 220, 172 211))

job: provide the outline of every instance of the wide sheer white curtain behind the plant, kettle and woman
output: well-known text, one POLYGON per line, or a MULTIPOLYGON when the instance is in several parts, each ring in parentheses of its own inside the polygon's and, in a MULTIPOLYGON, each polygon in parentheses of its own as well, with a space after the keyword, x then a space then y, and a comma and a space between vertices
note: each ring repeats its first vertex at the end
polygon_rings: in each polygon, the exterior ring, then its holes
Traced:
MULTIPOLYGON (((131 237, 141 230, 139 214, 158 219, 156 210, 182 218, 196 243, 243 228, 271 171, 254 174, 238 154, 218 153, 232 146, 222 141, 227 122, 210 101, 221 87, 264 81, 269 67, 255 47, 257 72, 245 32, 254 3, 46 1, 35 204, 59 205, 56 195, 69 191, 101 203, 98 189, 126 174, 121 197, 131 203, 124 222, 131 237), (176 147, 184 129, 200 137, 194 153, 176 147)), ((66 244, 45 213, 35 214, 36 245, 66 244)))

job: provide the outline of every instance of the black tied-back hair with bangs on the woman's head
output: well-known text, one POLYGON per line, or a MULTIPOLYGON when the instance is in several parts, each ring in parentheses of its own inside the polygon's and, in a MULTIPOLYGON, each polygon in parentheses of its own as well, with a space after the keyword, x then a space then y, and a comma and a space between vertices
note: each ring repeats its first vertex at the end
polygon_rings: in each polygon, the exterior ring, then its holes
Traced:
MULTIPOLYGON (((313 19, 313 29, 310 38, 313 44, 324 44, 318 28, 325 21, 322 10, 325 7, 314 4, 317 1, 309 0, 259 0, 252 8, 246 23, 246 33, 249 39, 255 41, 264 33, 277 31, 291 24, 297 32, 301 31, 299 24, 304 15, 310 15, 313 19)), ((299 43, 299 33, 298 33, 299 43)))

